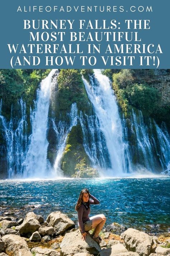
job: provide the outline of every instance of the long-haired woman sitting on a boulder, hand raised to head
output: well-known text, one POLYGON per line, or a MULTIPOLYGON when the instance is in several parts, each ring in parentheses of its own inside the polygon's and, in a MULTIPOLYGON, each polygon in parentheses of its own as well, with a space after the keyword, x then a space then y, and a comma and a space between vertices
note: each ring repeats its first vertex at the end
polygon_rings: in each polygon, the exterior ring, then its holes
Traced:
POLYGON ((79 228, 82 234, 82 239, 86 239, 86 231, 95 228, 93 232, 93 239, 97 242, 101 242, 99 232, 103 228, 106 217, 103 214, 95 215, 89 218, 90 205, 98 205, 99 201, 89 193, 88 189, 83 189, 80 192, 79 199, 76 204, 76 211, 78 213, 79 228))

